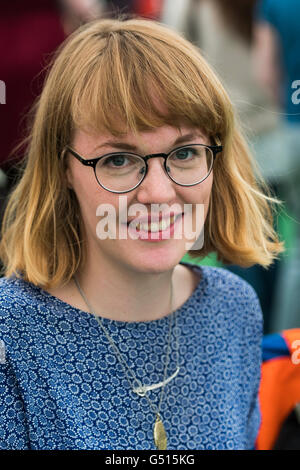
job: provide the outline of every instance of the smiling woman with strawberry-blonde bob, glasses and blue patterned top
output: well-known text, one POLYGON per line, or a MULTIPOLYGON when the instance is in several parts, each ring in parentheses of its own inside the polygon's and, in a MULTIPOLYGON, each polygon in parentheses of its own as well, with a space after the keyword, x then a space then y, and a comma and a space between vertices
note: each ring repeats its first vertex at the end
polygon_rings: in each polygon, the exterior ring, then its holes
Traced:
POLYGON ((1 447, 253 448, 259 302, 180 260, 268 266, 283 248, 263 188, 194 46, 147 20, 75 32, 4 218, 1 447))

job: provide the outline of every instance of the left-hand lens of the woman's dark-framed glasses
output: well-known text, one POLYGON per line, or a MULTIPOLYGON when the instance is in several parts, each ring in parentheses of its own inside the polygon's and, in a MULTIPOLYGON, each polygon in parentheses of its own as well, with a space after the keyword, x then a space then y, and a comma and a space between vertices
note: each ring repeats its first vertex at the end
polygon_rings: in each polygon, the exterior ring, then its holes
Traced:
POLYGON ((115 153, 98 161, 96 177, 111 191, 129 191, 143 179, 145 170, 143 158, 130 153, 115 153))

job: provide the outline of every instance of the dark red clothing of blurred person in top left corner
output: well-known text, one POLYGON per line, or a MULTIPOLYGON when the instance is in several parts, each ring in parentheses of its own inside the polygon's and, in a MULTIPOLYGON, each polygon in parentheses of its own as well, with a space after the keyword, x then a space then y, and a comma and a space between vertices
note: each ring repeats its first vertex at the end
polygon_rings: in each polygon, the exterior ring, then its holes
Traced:
POLYGON ((21 118, 40 92, 40 72, 65 35, 51 0, 1 2, 0 10, 1 80, 6 84, 6 104, 0 107, 0 168, 7 172, 13 164, 8 157, 23 137, 21 118))

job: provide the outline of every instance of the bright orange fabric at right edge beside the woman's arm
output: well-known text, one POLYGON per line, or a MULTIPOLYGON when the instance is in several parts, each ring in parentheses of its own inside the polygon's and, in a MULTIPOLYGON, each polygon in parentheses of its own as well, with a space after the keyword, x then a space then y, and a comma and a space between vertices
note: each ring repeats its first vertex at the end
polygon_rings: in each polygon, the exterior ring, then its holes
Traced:
POLYGON ((292 347, 300 340, 300 329, 286 330, 282 333, 290 350, 290 357, 274 357, 262 364, 259 401, 261 408, 261 427, 256 441, 256 449, 272 449, 282 423, 300 401, 300 345, 292 347), (297 350, 299 353, 297 353, 297 350), (294 354, 294 355, 293 355, 294 354))

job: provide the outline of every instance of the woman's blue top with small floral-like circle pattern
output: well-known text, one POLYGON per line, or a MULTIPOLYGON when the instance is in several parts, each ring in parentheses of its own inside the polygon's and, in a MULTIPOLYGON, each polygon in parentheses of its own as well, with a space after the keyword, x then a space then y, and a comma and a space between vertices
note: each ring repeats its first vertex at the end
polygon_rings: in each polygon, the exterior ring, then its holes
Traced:
MULTIPOLYGON (((181 264, 201 277, 176 311, 180 371, 160 410, 168 449, 253 449, 258 298, 226 269, 181 264)), ((103 319, 143 384, 163 380, 169 318, 103 319)), ((176 369, 174 331, 168 376, 176 369)), ((160 393, 148 392, 157 406, 160 393)), ((154 422, 93 315, 21 279, 0 279, 0 449, 156 449, 154 422)))

